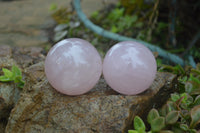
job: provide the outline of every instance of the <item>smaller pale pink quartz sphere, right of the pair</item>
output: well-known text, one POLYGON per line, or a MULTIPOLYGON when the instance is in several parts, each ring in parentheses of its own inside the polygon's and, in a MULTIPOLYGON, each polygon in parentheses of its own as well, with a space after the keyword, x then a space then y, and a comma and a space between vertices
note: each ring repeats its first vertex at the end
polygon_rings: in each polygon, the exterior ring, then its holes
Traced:
POLYGON ((153 82, 157 71, 152 52, 134 41, 114 45, 103 62, 103 75, 108 85, 124 95, 145 91, 153 82))

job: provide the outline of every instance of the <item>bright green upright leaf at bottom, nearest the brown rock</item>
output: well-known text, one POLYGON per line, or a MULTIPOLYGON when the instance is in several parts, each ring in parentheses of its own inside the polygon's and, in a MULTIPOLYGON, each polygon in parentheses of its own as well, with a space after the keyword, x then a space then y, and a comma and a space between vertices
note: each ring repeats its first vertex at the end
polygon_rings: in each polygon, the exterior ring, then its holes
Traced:
POLYGON ((134 118, 134 128, 140 132, 145 131, 145 124, 139 116, 135 116, 134 118))

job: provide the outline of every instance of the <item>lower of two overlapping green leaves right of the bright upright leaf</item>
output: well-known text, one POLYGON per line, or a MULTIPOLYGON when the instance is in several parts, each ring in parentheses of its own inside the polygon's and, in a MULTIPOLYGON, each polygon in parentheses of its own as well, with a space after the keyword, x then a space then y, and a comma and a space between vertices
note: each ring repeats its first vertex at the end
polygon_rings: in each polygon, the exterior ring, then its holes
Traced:
POLYGON ((157 117, 151 122, 151 130, 153 132, 159 132, 164 127, 165 127, 164 117, 157 117))

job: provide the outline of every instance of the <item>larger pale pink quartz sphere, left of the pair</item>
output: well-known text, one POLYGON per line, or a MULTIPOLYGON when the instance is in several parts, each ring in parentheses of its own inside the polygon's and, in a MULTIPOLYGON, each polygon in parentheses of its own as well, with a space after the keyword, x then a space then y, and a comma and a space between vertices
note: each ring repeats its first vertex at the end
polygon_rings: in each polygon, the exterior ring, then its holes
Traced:
POLYGON ((45 73, 57 91, 80 95, 98 82, 102 61, 89 42, 78 38, 65 39, 50 49, 45 60, 45 73))

